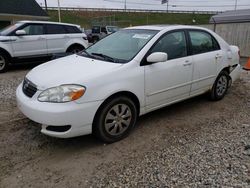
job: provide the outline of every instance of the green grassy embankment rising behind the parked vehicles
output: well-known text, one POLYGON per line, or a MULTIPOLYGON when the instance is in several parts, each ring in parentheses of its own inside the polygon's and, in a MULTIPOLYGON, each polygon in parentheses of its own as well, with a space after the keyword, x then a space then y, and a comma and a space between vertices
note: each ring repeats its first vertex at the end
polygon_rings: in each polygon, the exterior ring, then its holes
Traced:
MULTIPOLYGON (((58 21, 57 11, 48 12, 51 21, 58 21)), ((212 15, 187 13, 138 13, 138 12, 87 12, 61 11, 62 22, 74 23, 84 28, 103 23, 120 27, 149 25, 149 24, 208 24, 212 15)))

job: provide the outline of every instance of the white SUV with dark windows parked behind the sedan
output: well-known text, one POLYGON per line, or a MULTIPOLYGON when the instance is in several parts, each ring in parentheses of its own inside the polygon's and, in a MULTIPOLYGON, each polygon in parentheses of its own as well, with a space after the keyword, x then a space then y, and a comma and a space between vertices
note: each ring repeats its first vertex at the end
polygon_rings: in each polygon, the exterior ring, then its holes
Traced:
POLYGON ((77 25, 20 21, 0 33, 0 73, 10 63, 41 60, 55 53, 76 53, 88 47, 77 25))

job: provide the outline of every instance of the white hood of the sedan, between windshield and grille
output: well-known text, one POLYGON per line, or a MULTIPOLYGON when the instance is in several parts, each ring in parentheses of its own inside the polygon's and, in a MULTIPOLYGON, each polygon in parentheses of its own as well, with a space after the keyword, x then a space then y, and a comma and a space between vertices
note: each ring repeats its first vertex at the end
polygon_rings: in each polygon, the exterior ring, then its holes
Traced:
POLYGON ((39 65, 27 74, 27 79, 39 90, 62 84, 84 84, 91 78, 107 74, 122 64, 110 63, 78 55, 70 55, 39 65))

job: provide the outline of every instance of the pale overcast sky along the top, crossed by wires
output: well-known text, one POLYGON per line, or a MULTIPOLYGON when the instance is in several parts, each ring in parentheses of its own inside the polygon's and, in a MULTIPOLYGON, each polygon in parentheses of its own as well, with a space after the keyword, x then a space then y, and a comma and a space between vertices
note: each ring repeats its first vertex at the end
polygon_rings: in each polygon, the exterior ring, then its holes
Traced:
MULTIPOLYGON (((44 6, 45 0, 36 0, 44 6)), ((47 0, 48 7, 57 7, 58 0, 47 0)), ((167 4, 162 5, 161 0, 59 0, 61 7, 77 8, 120 8, 124 9, 154 9, 167 10, 167 4)), ((188 11, 225 11, 237 9, 250 9, 250 0, 169 0, 169 10, 188 11)))

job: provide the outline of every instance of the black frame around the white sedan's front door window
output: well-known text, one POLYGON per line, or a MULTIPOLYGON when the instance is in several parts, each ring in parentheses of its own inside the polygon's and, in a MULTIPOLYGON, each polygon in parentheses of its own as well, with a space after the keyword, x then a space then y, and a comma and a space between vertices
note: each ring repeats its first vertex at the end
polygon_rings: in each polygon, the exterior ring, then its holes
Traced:
MULTIPOLYGON (((140 62, 140 66, 146 66, 146 65, 149 65, 147 63, 147 57, 150 55, 151 53, 151 50, 156 46, 156 44, 163 38, 165 37, 166 35, 168 34, 171 34, 171 33, 175 33, 175 32, 183 32, 184 33, 184 37, 185 37, 185 42, 186 42, 186 47, 187 47, 187 56, 189 56, 189 53, 188 53, 188 40, 187 40, 187 36, 186 36, 186 29, 174 29, 174 30, 171 30, 171 31, 167 31, 166 33, 162 34, 156 41, 155 43, 150 47, 150 49, 147 51, 147 53, 145 54, 145 56, 142 58, 141 62, 140 62)), ((185 56, 185 57, 187 57, 185 56)))

